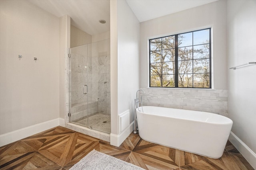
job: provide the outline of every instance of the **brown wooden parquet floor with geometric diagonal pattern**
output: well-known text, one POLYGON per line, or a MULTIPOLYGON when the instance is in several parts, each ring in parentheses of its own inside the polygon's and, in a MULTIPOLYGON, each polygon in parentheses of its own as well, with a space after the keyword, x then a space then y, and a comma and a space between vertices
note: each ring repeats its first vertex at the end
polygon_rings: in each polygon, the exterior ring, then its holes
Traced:
POLYGON ((60 126, 0 147, 0 169, 68 170, 93 149, 147 170, 253 170, 229 141, 223 156, 211 159, 150 143, 133 133, 114 147, 60 126))

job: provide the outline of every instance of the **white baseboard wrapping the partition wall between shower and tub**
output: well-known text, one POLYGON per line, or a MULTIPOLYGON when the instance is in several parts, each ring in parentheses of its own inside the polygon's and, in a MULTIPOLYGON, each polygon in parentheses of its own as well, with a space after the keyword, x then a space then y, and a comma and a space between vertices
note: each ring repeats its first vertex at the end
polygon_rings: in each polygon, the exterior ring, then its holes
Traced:
POLYGON ((119 147, 134 130, 134 121, 119 135, 110 133, 110 144, 119 147))

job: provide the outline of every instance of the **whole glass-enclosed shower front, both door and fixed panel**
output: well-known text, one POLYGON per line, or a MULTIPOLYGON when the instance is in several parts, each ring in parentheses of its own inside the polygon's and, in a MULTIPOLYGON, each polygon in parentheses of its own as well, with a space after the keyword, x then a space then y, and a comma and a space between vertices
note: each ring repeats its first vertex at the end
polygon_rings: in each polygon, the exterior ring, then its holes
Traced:
POLYGON ((110 133, 110 39, 69 50, 69 122, 110 133))

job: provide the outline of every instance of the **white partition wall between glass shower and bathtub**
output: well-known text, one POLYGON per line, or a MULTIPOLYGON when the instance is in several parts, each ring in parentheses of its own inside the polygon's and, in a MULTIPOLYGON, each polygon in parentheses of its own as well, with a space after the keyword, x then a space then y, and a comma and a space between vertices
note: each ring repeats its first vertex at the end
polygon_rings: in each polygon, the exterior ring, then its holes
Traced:
POLYGON ((111 133, 118 135, 118 115, 130 109, 130 123, 134 119, 140 23, 125 0, 110 1, 110 18, 111 133))

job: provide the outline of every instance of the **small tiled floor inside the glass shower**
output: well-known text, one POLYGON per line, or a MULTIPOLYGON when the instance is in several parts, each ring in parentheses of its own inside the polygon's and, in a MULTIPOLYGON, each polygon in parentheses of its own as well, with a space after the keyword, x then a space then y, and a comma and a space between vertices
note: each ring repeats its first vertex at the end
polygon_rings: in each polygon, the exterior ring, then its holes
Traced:
POLYGON ((84 118, 82 120, 76 121, 74 123, 78 125, 84 125, 88 127, 92 127, 92 129, 96 131, 101 131, 105 133, 110 133, 110 115, 103 114, 102 112, 97 113, 89 117, 89 125, 87 125, 87 119, 84 118))

